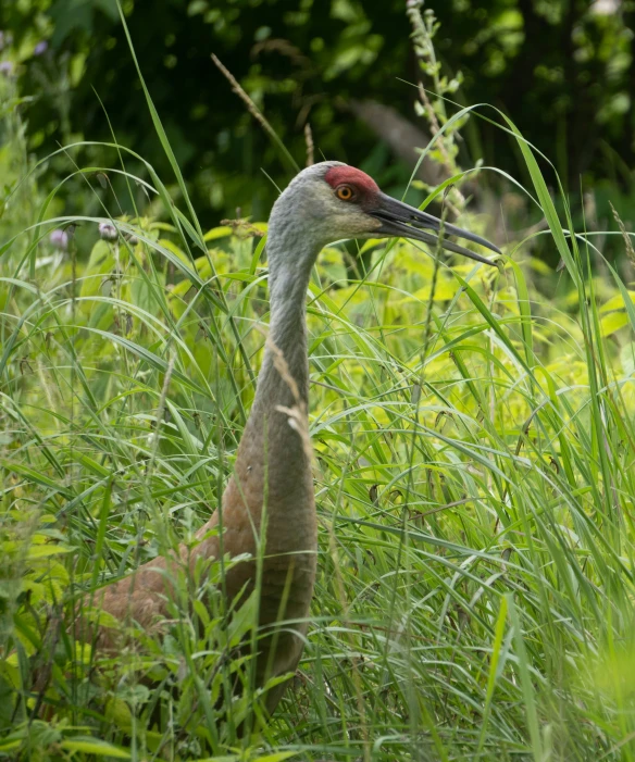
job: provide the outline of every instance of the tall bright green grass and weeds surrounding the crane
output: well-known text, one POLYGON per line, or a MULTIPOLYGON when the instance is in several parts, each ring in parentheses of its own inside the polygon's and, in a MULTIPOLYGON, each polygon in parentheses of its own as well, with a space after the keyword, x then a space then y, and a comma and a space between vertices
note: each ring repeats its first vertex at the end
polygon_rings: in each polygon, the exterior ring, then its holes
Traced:
MULTIPOLYGON (((292 690, 245 738, 260 710, 232 648, 254 609, 232 615, 221 564, 178 579, 162 637, 132 633, 116 659, 63 622, 194 542, 217 507, 264 343, 264 239, 204 233, 180 174, 174 197, 147 163, 128 173, 115 138, 137 216, 89 258, 48 232, 96 232, 116 204, 51 218, 55 192, 33 214, 10 199, 5 220, 24 220, 0 241, 0 755, 635 758, 632 292, 609 264, 596 277, 601 252, 558 217, 552 168, 501 128, 563 275, 513 233, 500 271, 404 242, 365 243, 361 283, 341 247, 315 268, 319 578, 292 690), (245 691, 220 705, 236 674, 245 691)), ((91 192, 98 171, 70 176, 91 192)))

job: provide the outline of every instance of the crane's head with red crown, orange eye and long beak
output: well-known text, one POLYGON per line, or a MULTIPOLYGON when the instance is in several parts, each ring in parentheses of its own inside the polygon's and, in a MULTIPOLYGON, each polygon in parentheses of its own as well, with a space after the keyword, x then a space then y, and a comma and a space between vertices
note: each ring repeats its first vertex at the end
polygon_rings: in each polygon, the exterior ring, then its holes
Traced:
POLYGON ((372 177, 340 162, 313 164, 291 180, 272 210, 270 237, 274 230, 283 233, 283 224, 296 233, 294 220, 299 222, 297 233, 304 242, 310 237, 316 249, 345 238, 410 238, 433 247, 440 243, 447 251, 494 264, 447 238, 456 236, 501 253, 485 238, 387 196, 372 177))

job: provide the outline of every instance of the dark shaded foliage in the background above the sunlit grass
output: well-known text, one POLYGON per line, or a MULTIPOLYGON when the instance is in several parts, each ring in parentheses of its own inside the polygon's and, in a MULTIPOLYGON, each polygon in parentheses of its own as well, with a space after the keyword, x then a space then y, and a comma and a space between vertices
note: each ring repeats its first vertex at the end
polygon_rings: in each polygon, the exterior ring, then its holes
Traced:
MULTIPOLYGON (((628 205, 635 3, 444 0, 425 8, 440 22, 435 47, 444 73, 463 75, 459 102, 506 111, 556 161, 574 205, 581 183, 593 185, 605 218, 603 183, 610 183, 614 203, 628 205)), ((377 125, 356 109, 373 100, 428 129, 413 109, 412 85, 421 72, 403 0, 125 0, 123 9, 146 82, 209 224, 238 205, 264 217, 275 188, 261 168, 278 184, 292 172, 231 92, 212 52, 300 165, 309 123, 316 158, 364 166, 388 185, 406 184, 408 161, 378 141, 377 125)), ((105 111, 120 142, 169 173, 114 0, 4 0, 0 28, 11 30, 22 50, 21 90, 40 93, 24 107, 38 154, 77 137, 109 139, 105 111), (48 49, 33 55, 41 40, 48 49)), ((482 158, 512 175, 521 172, 513 142, 486 122, 472 120, 464 137, 463 166, 482 158)), ((407 149, 415 159, 414 147, 407 149)), ((115 161, 102 149, 90 157, 103 165, 115 161)))

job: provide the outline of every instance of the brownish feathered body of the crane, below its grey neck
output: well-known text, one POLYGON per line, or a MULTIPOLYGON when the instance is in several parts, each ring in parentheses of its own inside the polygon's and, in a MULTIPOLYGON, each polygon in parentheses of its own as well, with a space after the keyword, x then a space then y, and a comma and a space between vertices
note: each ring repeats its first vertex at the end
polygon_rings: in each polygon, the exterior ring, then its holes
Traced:
MULTIPOLYGON (((259 625, 263 635, 269 635, 258 640, 259 685, 270 676, 294 672, 297 666, 308 628, 316 566, 315 507, 307 439, 291 428, 288 414, 276 411, 278 405, 288 408, 296 422, 302 415, 302 405, 289 399, 286 387, 275 386, 277 399, 270 401, 271 407, 264 403, 254 405, 222 503, 222 550, 231 558, 245 554, 257 558, 263 519, 265 521, 259 625), (281 448, 284 457, 278 457, 281 448), (265 474, 269 476, 267 490, 264 488, 265 474), (274 642, 275 652, 272 653, 274 642)), ((201 539, 194 550, 182 546, 178 565, 187 559, 194 571, 199 559, 220 558, 221 534, 210 533, 219 526, 220 519, 215 513, 201 527, 197 535, 201 539)), ((165 573, 169 563, 165 558, 158 558, 144 564, 129 577, 104 588, 94 605, 110 613, 117 622, 132 623, 134 620, 137 626, 151 632, 167 615, 172 595, 171 575, 165 573)), ((241 591, 244 595, 251 592, 254 579, 254 560, 232 565, 225 577, 228 602, 241 591)), ((121 632, 101 627, 97 647, 112 653, 121 646, 121 632)), ((283 690, 284 686, 279 686, 270 691, 266 700, 270 711, 283 690)))

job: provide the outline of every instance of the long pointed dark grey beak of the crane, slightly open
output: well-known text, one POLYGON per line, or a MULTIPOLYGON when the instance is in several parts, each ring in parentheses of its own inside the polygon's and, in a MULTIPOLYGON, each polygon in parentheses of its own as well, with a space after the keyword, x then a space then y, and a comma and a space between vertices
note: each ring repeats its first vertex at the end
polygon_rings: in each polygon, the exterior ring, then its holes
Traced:
MULTIPOLYGON (((414 207, 410 207, 402 201, 397 201, 386 193, 379 192, 378 203, 373 209, 369 210, 371 214, 376 220, 379 220, 382 227, 378 228, 377 233, 384 236, 395 236, 398 238, 410 238, 412 240, 420 240, 424 243, 429 243, 431 246, 440 246, 448 251, 453 251, 457 254, 463 254, 463 257, 469 257, 471 260, 476 260, 476 262, 483 262, 483 264, 495 265, 495 262, 488 260, 486 257, 470 251, 458 243, 453 243, 447 238, 438 238, 438 236, 433 236, 429 233, 425 233, 424 229, 436 230, 437 233, 441 229, 441 221, 437 217, 428 214, 427 212, 421 212, 414 207), (422 229, 423 228, 423 229, 422 229)), ((490 243, 485 238, 481 236, 475 236, 469 230, 463 230, 456 225, 450 225, 449 223, 443 223, 444 236, 457 236, 458 238, 463 238, 464 240, 471 240, 474 243, 484 246, 486 249, 501 254, 500 249, 494 243, 490 243)))

